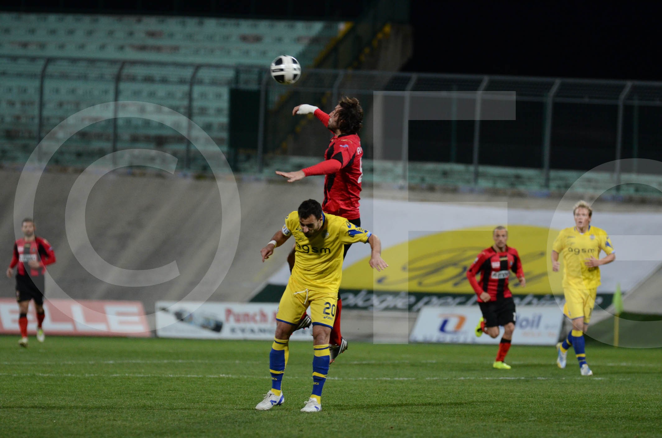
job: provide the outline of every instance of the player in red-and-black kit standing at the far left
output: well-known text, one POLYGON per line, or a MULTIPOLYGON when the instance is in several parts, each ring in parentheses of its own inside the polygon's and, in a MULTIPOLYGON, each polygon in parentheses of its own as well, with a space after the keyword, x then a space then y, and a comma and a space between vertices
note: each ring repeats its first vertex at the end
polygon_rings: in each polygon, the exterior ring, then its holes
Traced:
POLYGON ((16 272, 16 300, 19 302, 19 328, 21 328, 21 347, 28 346, 28 307, 34 300, 37 314, 37 340, 44 342, 44 274, 46 265, 55 263, 53 247, 46 239, 34 235, 34 221, 23 219, 21 223, 23 238, 14 243, 14 256, 7 268, 7 277, 11 279, 16 272))

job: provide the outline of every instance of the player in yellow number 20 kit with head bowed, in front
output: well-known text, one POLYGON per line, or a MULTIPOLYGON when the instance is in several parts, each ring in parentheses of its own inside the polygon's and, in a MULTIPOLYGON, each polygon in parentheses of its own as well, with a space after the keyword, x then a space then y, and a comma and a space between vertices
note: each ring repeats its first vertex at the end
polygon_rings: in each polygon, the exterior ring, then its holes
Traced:
POLYGON ((367 242, 372 249, 370 267, 381 271, 388 265, 381 258, 381 242, 377 236, 354 226, 345 218, 325 214, 320 203, 314 199, 305 200, 297 211, 285 218, 282 230, 276 232, 261 249, 262 261, 268 259, 273 249, 283 245, 290 236, 295 238, 297 256, 276 315, 275 338, 269 354, 271 390, 256 409, 269 410, 285 401, 281 382, 289 357, 289 337, 299 325, 301 314, 310 305, 313 383, 312 394, 301 412, 319 412, 322 410, 322 388, 329 369, 329 335, 336 318, 336 301, 342 279, 343 245, 367 242))

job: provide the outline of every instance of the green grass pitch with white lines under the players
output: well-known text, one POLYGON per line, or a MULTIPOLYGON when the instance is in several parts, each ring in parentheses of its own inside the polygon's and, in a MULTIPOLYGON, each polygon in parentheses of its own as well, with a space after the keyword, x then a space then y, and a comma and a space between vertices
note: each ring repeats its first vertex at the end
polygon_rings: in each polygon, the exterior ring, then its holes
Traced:
POLYGON ((554 347, 350 343, 331 365, 322 412, 299 412, 312 344, 293 342, 285 404, 254 407, 270 386, 269 341, 0 337, 6 437, 653 437, 662 349, 587 349, 593 377, 554 347))

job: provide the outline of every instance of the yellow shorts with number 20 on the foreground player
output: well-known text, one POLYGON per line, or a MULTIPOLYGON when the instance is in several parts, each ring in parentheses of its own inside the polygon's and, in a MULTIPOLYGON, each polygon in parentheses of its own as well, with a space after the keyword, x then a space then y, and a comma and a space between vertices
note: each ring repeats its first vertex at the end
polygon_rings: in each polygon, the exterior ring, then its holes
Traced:
POLYGON ((338 291, 307 289, 290 278, 281 296, 276 319, 297 326, 308 306, 314 326, 333 328, 338 308, 338 291))

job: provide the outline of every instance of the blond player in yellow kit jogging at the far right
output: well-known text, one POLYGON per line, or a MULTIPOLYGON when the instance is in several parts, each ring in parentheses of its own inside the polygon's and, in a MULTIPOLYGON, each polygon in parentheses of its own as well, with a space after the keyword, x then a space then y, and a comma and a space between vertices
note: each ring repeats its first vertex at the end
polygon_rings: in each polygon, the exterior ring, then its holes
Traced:
POLYGON ((565 341, 558 343, 556 363, 565 368, 566 355, 572 345, 579 361, 579 371, 583 376, 593 372, 586 362, 584 333, 589 328, 595 296, 600 286, 600 265, 616 259, 616 251, 607 232, 591 226, 593 210, 586 201, 579 201, 573 207, 575 226, 559 232, 551 251, 551 269, 559 271, 559 254, 563 254, 563 314, 570 318, 573 328, 565 341), (602 259, 600 250, 606 253, 602 259))

